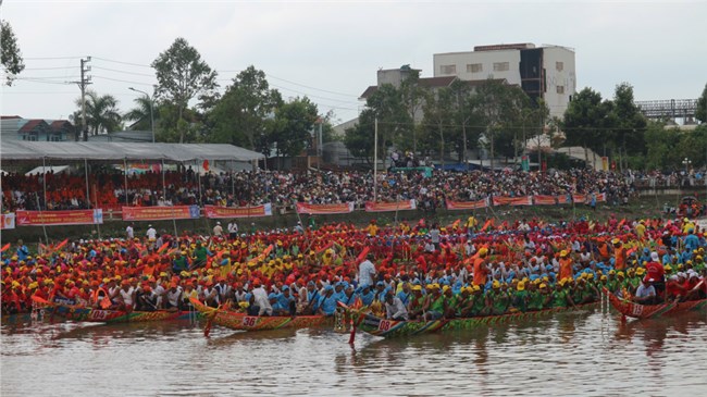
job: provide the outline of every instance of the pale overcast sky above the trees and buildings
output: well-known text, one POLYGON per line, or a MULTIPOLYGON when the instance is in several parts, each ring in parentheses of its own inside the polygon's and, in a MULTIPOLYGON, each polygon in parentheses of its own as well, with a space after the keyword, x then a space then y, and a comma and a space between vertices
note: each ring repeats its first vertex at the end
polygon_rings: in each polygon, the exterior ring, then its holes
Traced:
POLYGON ((376 70, 410 64, 432 76, 433 54, 533 42, 576 51, 578 90, 611 97, 621 82, 637 100, 697 98, 707 83, 707 2, 615 1, 34 1, 4 0, 26 70, 2 87, 1 114, 66 119, 79 59, 91 89, 121 111, 133 86, 152 90, 149 64, 186 38, 221 87, 248 65, 283 97, 308 96, 322 113, 355 117, 376 70))

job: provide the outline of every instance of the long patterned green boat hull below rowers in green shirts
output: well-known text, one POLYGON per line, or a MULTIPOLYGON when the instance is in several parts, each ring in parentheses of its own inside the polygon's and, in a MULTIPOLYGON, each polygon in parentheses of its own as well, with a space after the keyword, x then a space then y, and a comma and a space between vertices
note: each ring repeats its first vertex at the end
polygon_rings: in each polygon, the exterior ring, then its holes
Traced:
POLYGON ((365 310, 347 308, 354 318, 354 326, 374 336, 386 338, 413 336, 420 334, 430 334, 450 330, 470 330, 477 326, 487 326, 494 324, 508 323, 513 321, 523 321, 538 319, 554 313, 570 312, 578 309, 593 309, 598 307, 599 302, 590 302, 578 305, 576 308, 553 308, 538 311, 513 312, 500 315, 471 317, 463 319, 447 319, 432 321, 396 321, 385 320, 365 310))

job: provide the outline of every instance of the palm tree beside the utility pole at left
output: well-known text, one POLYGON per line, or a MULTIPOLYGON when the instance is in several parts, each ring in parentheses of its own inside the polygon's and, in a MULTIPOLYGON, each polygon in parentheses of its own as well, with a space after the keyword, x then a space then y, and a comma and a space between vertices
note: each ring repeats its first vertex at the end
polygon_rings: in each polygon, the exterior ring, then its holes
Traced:
MULTIPOLYGON (((71 116, 74 124, 80 125, 80 98, 76 99, 78 110, 71 116)), ((123 117, 117 110, 117 99, 112 95, 100 96, 96 91, 86 91, 86 128, 92 135, 111 133, 123 127, 123 117)), ((84 137, 86 138, 86 137, 84 137)))

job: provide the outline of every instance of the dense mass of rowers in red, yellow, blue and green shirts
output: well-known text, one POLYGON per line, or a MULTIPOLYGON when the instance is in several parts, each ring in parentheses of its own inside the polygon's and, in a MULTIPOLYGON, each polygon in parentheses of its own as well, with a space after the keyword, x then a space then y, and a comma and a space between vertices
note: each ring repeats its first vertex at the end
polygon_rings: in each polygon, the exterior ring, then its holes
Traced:
POLYGON ((3 247, 2 309, 30 310, 32 296, 139 310, 198 297, 253 314, 331 314, 357 298, 383 310, 390 295, 412 318, 479 315, 578 305, 601 287, 634 296, 646 275, 685 298, 704 277, 707 233, 687 219, 480 223, 65 240, 42 252, 17 241, 3 247))

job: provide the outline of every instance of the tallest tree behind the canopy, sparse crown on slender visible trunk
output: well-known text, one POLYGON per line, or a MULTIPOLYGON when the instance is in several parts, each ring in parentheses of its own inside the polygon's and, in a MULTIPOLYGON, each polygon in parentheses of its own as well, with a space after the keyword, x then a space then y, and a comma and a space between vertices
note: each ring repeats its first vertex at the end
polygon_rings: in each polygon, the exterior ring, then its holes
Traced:
MULTIPOLYGON (((186 131, 184 112, 189 101, 198 98, 200 107, 208 108, 214 103, 216 72, 212 71, 201 54, 184 38, 179 37, 152 62, 157 75, 156 97, 164 99, 176 107, 177 122, 174 127, 179 134, 179 142, 184 142, 186 131)), ((166 125, 165 125, 166 127, 166 125)))

